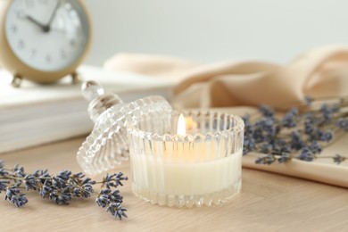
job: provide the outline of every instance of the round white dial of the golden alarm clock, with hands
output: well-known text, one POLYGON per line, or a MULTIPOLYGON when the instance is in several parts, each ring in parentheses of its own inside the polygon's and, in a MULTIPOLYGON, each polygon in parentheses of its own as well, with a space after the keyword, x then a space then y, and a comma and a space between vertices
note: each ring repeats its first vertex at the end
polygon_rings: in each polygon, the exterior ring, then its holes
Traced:
POLYGON ((79 1, 13 0, 5 17, 7 42, 30 68, 62 70, 86 50, 89 25, 79 1))

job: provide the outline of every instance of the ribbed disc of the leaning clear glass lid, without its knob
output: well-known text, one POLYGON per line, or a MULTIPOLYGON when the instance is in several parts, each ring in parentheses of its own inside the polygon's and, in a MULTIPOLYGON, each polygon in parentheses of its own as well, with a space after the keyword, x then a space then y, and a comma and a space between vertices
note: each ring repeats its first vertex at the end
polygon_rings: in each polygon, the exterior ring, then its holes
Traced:
POLYGON ((137 122, 144 112, 168 115, 171 106, 162 96, 153 95, 129 104, 113 105, 104 112, 91 112, 97 114, 91 117, 95 118, 95 127, 79 147, 77 161, 87 174, 95 175, 128 160, 128 123, 137 122))

